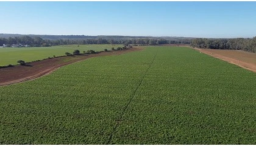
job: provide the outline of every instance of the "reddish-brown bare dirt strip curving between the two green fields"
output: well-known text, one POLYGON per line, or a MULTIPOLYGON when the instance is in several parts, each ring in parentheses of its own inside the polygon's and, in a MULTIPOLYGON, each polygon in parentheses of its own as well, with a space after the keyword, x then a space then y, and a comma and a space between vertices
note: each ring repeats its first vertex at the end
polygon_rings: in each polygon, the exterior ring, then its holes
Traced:
POLYGON ((142 49, 143 47, 133 47, 132 49, 111 50, 107 52, 99 52, 98 54, 56 57, 27 63, 26 66, 17 65, 15 67, 1 68, 0 86, 33 80, 35 78, 42 77, 43 75, 50 74, 51 72, 55 71, 61 66, 65 66, 66 64, 76 63, 91 57, 120 55, 142 49))

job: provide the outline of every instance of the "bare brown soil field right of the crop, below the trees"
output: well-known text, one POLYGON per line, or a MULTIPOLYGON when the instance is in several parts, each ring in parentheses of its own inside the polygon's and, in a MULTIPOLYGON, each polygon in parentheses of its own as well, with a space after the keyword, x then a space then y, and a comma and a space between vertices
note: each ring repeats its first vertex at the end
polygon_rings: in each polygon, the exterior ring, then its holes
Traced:
POLYGON ((256 72, 256 54, 245 52, 243 50, 219 50, 219 49, 198 49, 204 54, 219 58, 232 64, 236 64, 241 68, 256 72))

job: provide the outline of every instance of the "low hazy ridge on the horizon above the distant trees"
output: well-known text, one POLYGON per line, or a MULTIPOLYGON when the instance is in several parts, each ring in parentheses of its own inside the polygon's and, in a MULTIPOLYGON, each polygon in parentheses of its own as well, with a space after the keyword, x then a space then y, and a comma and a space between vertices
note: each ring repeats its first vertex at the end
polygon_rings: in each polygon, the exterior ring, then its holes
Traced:
POLYGON ((9 34, 9 33, 0 33, 0 38, 14 38, 15 36, 30 36, 40 37, 44 40, 86 40, 86 39, 97 39, 102 38, 106 40, 129 40, 129 39, 138 39, 138 38, 151 38, 151 39, 165 39, 165 40, 191 40, 194 38, 191 37, 176 37, 176 36, 119 36, 119 35, 21 35, 21 34, 9 34))

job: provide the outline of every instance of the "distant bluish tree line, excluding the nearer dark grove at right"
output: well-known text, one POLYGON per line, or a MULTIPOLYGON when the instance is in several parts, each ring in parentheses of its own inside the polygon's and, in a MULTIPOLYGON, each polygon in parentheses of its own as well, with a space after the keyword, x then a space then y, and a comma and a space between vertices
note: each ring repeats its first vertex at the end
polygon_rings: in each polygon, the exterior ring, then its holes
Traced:
POLYGON ((85 39, 85 40, 47 40, 40 37, 30 37, 30 36, 15 36, 14 38, 0 38, 0 46, 5 44, 6 46, 11 46, 12 44, 23 44, 34 47, 47 47, 47 46, 57 46, 57 45, 67 45, 67 44, 141 44, 141 45, 156 45, 156 44, 190 44, 191 39, 177 39, 177 40, 166 40, 166 39, 152 39, 152 38, 134 38, 134 39, 85 39))

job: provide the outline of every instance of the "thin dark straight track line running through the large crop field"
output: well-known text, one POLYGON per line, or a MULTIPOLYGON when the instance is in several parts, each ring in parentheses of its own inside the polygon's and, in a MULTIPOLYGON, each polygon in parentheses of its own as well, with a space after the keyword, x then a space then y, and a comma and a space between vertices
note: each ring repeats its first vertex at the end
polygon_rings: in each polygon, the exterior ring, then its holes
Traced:
POLYGON ((132 102, 132 99, 135 97, 135 93, 138 91, 138 88, 140 88, 140 85, 141 85, 141 83, 143 82, 144 77, 146 76, 146 74, 148 73, 148 71, 149 71, 149 69, 151 68, 152 64, 154 63, 155 57, 157 56, 157 53, 158 53, 158 50, 157 50, 157 52, 155 53, 154 58, 153 58, 153 60, 151 61, 151 64, 149 64, 149 67, 148 67, 148 69, 146 70, 145 74, 144 74, 143 77, 141 78, 140 83, 139 83, 138 86, 136 87, 135 91, 133 91, 133 93, 130 95, 130 99, 128 100, 128 103, 126 104, 126 106, 124 106, 123 112, 121 113, 119 119, 116 120, 116 121, 117 121, 117 122, 116 122, 116 125, 115 125, 115 127, 114 127, 112 133, 110 134, 106 145, 109 145, 110 142, 112 141, 113 134, 116 133, 116 129, 119 127, 121 121, 123 120, 123 116, 124 116, 124 114, 126 113, 128 106, 129 106, 130 103, 132 102))

